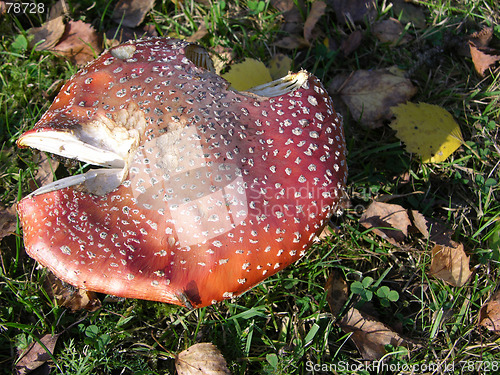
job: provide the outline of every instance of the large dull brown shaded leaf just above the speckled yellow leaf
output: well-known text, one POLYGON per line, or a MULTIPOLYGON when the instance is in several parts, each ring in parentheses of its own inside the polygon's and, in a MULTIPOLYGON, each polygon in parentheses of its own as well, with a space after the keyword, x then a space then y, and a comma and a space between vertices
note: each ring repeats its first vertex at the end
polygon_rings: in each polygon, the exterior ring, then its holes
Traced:
POLYGON ((376 128, 391 118, 390 107, 406 102, 417 89, 400 71, 378 69, 337 76, 328 91, 340 96, 355 120, 376 128))

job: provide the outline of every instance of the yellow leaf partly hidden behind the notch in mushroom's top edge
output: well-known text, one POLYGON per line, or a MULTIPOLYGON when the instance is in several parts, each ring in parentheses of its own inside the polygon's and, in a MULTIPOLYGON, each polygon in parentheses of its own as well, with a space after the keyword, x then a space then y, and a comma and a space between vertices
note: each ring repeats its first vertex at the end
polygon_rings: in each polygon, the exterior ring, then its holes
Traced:
POLYGON ((222 77, 238 91, 246 91, 272 81, 271 74, 264 63, 255 59, 245 59, 239 64, 234 64, 222 77))

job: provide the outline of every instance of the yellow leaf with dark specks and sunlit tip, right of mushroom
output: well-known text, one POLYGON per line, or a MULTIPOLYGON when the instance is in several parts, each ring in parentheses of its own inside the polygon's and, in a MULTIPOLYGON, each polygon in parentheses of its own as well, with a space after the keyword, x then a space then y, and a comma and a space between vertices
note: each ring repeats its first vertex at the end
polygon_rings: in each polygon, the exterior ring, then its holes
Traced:
POLYGON ((424 163, 445 161, 463 143, 460 127, 445 109, 427 103, 408 103, 392 107, 396 119, 391 128, 409 152, 424 163))

